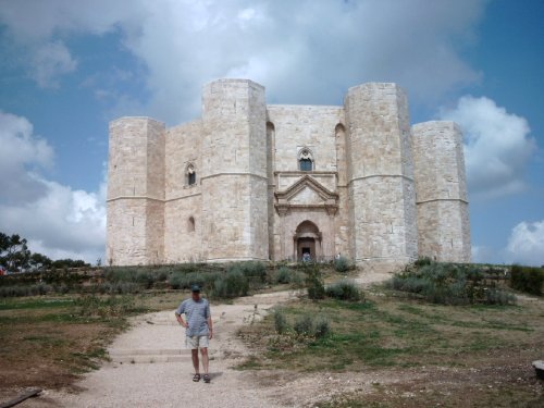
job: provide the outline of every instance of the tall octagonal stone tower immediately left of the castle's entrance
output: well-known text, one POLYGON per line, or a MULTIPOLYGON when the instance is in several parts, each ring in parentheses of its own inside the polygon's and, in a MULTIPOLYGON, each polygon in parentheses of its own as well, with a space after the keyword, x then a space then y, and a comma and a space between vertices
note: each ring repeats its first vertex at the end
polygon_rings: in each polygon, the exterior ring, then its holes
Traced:
POLYGON ((202 95, 202 246, 208 260, 269 259, 264 88, 220 79, 202 95))

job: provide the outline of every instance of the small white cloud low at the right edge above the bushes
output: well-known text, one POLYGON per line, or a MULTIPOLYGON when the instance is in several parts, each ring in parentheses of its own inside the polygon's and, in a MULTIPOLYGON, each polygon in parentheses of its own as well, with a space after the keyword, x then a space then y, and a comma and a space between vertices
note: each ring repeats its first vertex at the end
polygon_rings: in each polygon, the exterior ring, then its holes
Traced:
POLYGON ((544 220, 520 222, 508 238, 507 259, 510 263, 544 265, 544 220))

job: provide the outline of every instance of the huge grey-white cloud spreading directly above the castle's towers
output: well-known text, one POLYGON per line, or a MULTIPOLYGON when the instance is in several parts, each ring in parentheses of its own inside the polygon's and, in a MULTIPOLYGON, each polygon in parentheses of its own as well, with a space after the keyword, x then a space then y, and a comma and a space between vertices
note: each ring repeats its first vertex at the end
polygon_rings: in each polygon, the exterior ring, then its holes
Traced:
MULTIPOLYGON (((433 103, 479 81, 459 51, 473 44, 485 3, 27 0, 3 2, 0 22, 24 45, 119 33, 147 67, 147 114, 173 124, 199 114, 203 83, 230 75, 260 82, 285 103, 338 103, 347 87, 368 81, 398 82, 433 103)), ((46 78, 75 69, 61 50, 46 78)))

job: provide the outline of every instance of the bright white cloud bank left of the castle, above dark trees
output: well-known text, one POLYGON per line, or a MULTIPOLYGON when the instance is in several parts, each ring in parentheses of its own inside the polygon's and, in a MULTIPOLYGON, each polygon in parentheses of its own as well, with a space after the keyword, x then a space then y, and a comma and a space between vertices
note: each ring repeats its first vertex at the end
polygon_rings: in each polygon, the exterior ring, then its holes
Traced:
POLYGON ((0 231, 51 258, 103 257, 106 181, 88 193, 40 175, 40 166, 53 164, 53 150, 25 118, 0 112, 0 231))

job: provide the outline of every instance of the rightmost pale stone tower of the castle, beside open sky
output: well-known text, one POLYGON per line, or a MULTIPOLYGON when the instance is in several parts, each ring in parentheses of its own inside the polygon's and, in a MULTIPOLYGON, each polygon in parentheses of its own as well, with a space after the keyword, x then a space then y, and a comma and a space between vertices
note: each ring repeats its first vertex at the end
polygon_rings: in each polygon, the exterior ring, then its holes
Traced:
POLYGON ((454 122, 412 126, 420 256, 470 262, 462 135, 454 122))

